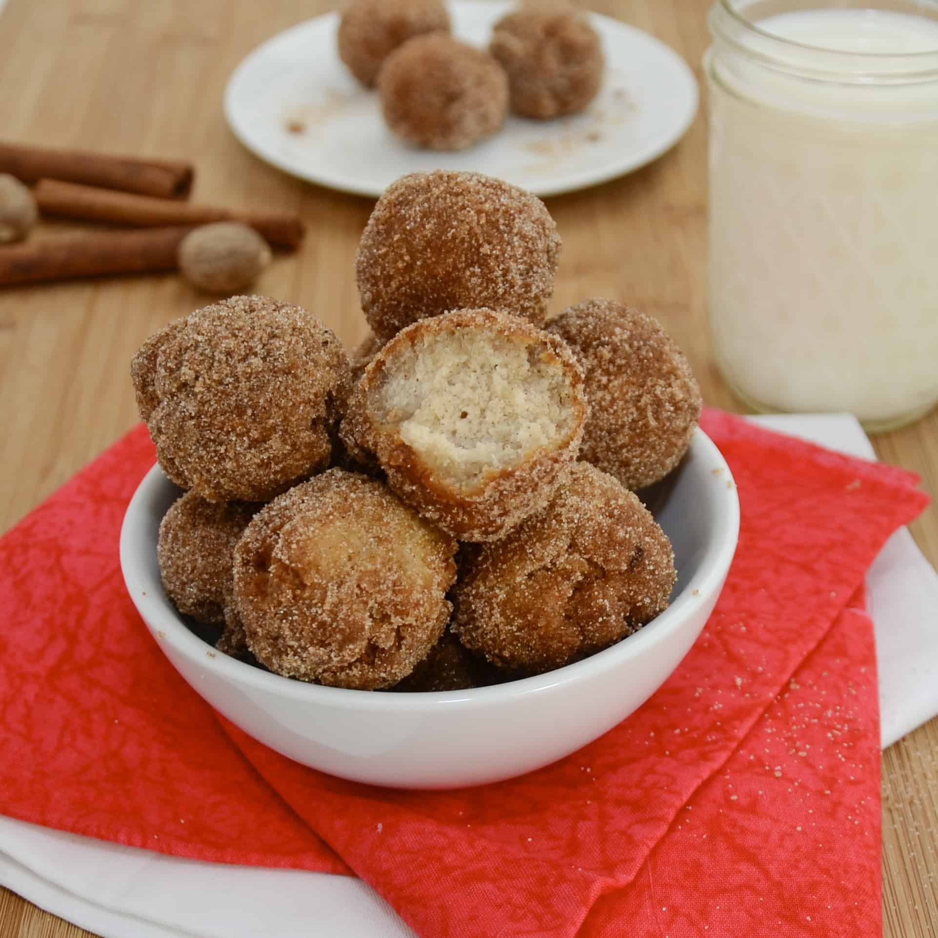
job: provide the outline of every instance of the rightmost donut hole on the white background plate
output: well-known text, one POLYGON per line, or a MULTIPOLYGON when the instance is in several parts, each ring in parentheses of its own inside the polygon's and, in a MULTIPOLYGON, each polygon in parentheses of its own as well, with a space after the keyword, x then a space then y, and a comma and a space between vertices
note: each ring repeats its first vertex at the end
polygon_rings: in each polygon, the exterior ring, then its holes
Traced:
POLYGON ((578 113, 602 84, 602 43, 573 8, 510 13, 495 24, 490 51, 507 72, 511 110, 524 117, 578 113))

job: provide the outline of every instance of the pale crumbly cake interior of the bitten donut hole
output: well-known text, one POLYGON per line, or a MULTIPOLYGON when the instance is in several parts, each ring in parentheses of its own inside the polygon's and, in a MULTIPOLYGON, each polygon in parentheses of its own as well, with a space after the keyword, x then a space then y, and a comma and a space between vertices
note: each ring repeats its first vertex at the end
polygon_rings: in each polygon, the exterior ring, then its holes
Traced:
POLYGON ((469 490, 567 442, 568 368, 536 337, 462 326, 401 343, 369 402, 434 475, 469 490))

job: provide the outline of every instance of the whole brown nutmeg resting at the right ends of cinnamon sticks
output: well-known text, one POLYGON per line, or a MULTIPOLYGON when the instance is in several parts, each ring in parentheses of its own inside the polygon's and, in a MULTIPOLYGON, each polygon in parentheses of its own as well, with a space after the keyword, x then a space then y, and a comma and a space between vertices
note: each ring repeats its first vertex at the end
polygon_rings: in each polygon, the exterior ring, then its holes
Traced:
POLYGON ((250 286, 270 263, 260 234, 234 221, 217 221, 189 232, 179 245, 179 269, 192 286, 235 294, 250 286))

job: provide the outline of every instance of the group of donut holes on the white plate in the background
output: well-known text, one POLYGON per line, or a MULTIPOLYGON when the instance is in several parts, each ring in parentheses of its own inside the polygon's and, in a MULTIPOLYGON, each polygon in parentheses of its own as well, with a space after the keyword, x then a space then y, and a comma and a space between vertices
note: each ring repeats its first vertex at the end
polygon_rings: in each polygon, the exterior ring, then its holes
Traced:
POLYGON ((377 88, 387 126, 431 150, 492 137, 509 110, 537 120, 579 113, 605 68, 587 17, 556 0, 509 13, 487 52, 450 34, 443 0, 349 0, 338 41, 356 79, 377 88))

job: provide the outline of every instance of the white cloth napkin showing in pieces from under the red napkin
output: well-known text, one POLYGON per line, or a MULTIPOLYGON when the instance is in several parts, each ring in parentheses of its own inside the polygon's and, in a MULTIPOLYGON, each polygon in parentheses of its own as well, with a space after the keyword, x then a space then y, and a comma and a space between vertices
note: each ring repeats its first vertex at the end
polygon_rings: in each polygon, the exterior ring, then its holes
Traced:
MULTIPOLYGON (((753 419, 874 458, 852 416, 753 419)), ((867 585, 885 747, 938 713, 938 576, 903 529, 870 567, 867 585)), ((414 938, 350 877, 183 860, 2 815, 0 883, 103 938, 414 938)))

